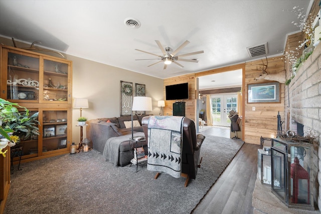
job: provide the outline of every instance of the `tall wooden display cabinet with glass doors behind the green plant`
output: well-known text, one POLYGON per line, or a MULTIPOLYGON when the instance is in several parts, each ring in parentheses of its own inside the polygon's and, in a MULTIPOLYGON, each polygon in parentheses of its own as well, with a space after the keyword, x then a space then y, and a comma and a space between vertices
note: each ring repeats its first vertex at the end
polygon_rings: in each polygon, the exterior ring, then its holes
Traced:
MULTIPOLYGON (((21 162, 69 153, 72 62, 1 46, 1 98, 39 112, 39 136, 25 141, 21 162)), ((18 163, 19 157, 13 158, 18 163)))

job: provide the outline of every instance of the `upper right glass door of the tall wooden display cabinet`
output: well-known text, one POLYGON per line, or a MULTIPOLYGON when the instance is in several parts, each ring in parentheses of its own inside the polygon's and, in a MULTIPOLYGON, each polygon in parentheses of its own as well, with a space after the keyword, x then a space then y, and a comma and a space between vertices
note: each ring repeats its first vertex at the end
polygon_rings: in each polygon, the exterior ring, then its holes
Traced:
MULTIPOLYGON (((67 101, 69 97, 68 72, 70 65, 63 61, 59 62, 44 59, 43 97, 44 101, 67 101)), ((69 103, 69 102, 68 102, 69 103)))

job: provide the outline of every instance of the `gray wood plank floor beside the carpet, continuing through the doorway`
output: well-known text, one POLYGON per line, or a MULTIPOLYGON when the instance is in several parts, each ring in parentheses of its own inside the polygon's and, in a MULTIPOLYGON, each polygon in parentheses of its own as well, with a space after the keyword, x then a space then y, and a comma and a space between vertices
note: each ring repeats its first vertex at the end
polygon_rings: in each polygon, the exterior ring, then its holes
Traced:
MULTIPOLYGON (((211 128, 202 133, 230 137, 229 129, 211 128)), ((252 194, 257 174, 258 148, 259 145, 244 143, 192 213, 252 214, 252 194)))

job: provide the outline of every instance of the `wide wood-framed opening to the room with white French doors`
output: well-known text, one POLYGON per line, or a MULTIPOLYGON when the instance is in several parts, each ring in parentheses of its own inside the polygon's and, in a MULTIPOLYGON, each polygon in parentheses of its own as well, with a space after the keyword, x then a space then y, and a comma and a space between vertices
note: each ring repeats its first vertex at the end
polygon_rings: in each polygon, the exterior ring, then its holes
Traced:
MULTIPOLYGON (((232 70, 217 69, 213 74, 198 76, 198 114, 200 120, 205 121, 206 129, 229 129, 230 133, 229 112, 237 112, 242 107, 238 99, 243 101, 240 98, 243 70, 241 66, 235 66, 232 70)), ((203 130, 200 126, 200 132, 203 130)))

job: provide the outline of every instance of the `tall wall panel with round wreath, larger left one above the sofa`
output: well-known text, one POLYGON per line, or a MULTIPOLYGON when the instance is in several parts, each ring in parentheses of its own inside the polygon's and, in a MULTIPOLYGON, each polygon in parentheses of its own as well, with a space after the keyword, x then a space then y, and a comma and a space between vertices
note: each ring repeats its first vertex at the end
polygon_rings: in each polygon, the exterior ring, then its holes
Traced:
POLYGON ((132 83, 120 81, 120 116, 131 114, 132 83))

